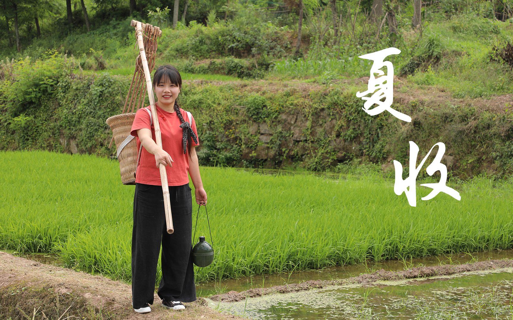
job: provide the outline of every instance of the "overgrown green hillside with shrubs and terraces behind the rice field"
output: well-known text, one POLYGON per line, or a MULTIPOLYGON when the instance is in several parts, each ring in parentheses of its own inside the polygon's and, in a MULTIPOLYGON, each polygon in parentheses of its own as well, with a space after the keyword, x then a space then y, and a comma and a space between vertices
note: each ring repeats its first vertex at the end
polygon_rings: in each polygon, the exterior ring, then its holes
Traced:
MULTIPOLYGON (((392 30, 387 19, 375 22, 369 2, 336 3, 336 28, 333 7, 305 3, 296 51, 297 7, 272 14, 278 9, 235 3, 226 22, 215 8, 174 28, 162 20, 156 64, 182 73, 179 103, 200 124, 204 165, 386 171, 394 159, 407 161, 412 140, 421 154, 444 142, 453 177, 504 177, 513 171, 513 24, 500 4, 427 3, 412 29, 411 3, 392 2, 392 30), (402 51, 389 57, 393 108, 411 123, 368 116, 355 96, 370 70, 358 56, 391 46, 402 51)), ((129 22, 150 19, 122 8, 109 20, 97 7, 89 32, 43 32, 25 38, 20 53, 3 49, 2 150, 115 155, 105 120, 121 113, 133 73, 129 22)))

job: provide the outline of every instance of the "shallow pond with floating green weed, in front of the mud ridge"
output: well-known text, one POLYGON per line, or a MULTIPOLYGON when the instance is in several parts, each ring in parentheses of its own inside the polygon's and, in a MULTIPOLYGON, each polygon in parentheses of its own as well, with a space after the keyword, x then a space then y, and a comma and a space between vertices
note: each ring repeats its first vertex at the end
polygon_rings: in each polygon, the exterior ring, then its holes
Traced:
POLYGON ((219 311, 253 319, 511 319, 513 268, 264 295, 219 311))

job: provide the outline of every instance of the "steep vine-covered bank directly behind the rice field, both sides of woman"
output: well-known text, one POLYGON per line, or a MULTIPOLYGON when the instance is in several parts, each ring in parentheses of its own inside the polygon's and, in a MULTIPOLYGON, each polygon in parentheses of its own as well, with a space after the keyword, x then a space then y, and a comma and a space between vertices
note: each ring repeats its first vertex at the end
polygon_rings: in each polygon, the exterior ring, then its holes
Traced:
MULTIPOLYGON (((71 58, 51 54, 0 66, 0 150, 47 150, 114 156, 105 120, 119 114, 130 79, 87 75, 71 58), (34 89, 37 88, 37 89, 34 89)), ((179 103, 198 123, 204 165, 302 167, 340 172, 341 166, 390 166, 407 159, 408 141, 421 150, 446 145, 449 175, 513 173, 513 122, 509 96, 455 99, 448 92, 404 78, 394 83, 393 108, 368 116, 355 96, 360 80, 184 80, 179 103)), ((447 159, 445 159, 447 158, 447 159)))

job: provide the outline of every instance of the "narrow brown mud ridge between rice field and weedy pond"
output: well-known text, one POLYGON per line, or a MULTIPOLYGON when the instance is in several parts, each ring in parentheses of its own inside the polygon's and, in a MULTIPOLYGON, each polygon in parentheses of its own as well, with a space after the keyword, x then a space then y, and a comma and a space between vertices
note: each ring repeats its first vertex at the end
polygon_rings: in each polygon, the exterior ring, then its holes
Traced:
POLYGON ((270 288, 249 289, 242 292, 230 291, 224 294, 217 294, 210 297, 213 301, 236 302, 245 300, 247 297, 257 297, 265 294, 297 292, 313 288, 323 288, 332 285, 348 284, 373 284, 377 281, 405 280, 413 278, 425 278, 429 276, 443 276, 468 271, 495 270, 513 267, 513 260, 489 260, 461 265, 440 265, 431 267, 415 267, 405 271, 385 271, 383 269, 353 276, 340 280, 309 280, 300 284, 274 286, 270 288))

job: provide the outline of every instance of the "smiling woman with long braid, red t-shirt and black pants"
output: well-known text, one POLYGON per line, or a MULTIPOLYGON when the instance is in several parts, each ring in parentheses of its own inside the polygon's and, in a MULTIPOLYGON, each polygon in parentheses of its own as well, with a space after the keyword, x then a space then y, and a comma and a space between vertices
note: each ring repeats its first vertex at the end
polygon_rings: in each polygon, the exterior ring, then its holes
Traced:
POLYGON ((176 102, 182 78, 176 68, 161 66, 153 75, 156 113, 162 148, 155 143, 150 115, 135 113, 130 134, 137 137, 141 159, 136 170, 132 229, 132 306, 135 312, 150 312, 156 266, 162 240, 162 281, 157 294, 162 306, 182 310, 182 302, 196 300, 191 256, 192 199, 187 171, 194 184, 196 203, 207 204, 195 146, 199 145, 196 123, 176 102), (164 198, 159 164, 166 166, 174 232, 166 231, 164 198))

